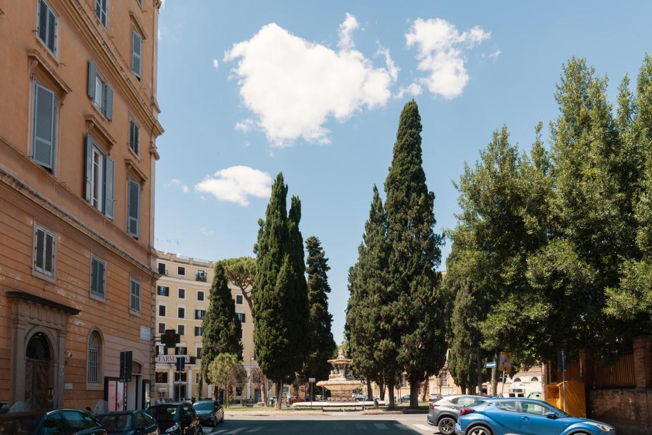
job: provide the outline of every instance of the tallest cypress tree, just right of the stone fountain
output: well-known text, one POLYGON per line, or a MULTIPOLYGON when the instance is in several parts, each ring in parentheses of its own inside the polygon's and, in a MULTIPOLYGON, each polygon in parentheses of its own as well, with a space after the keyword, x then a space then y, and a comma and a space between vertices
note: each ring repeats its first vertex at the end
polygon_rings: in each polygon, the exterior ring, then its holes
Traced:
POLYGON ((412 100, 396 131, 392 165, 385 180, 387 238, 398 361, 410 382, 410 406, 418 406, 419 384, 445 361, 439 285, 443 236, 435 234, 435 195, 428 191, 421 157, 421 116, 412 100))

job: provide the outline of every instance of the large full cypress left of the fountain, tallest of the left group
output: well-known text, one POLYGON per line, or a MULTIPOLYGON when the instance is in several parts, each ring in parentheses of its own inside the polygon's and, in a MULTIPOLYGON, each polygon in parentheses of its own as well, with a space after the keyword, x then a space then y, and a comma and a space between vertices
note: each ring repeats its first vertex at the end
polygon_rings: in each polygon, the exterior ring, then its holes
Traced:
POLYGON ((293 377, 303 364, 308 330, 301 202, 293 198, 288 219, 287 195, 288 186, 279 173, 254 246, 258 254, 252 290, 254 349, 261 370, 276 383, 277 408, 284 378, 293 377))

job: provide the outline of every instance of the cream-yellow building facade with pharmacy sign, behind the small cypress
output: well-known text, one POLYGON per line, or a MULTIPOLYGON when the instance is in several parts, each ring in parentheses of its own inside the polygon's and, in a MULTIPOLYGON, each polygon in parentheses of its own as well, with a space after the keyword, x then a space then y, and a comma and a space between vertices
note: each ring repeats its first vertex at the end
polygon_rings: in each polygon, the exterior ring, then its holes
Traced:
MULTIPOLYGON (((159 398, 206 398, 224 395, 212 391, 212 386, 203 383, 198 392, 201 365, 201 319, 209 306, 209 293, 213 282, 213 262, 181 257, 157 251, 157 272, 160 278, 156 287, 156 336, 166 329, 174 329, 181 336, 181 343, 175 349, 166 349, 156 344, 156 394, 159 398), (187 355, 184 372, 177 372, 177 356, 187 355)), ((250 374, 258 366, 254 359, 254 323, 251 308, 243 297, 241 289, 229 283, 235 312, 242 323, 243 365, 250 374)), ((256 385, 248 382, 243 389, 235 389, 235 400, 252 399, 258 402, 256 385)))

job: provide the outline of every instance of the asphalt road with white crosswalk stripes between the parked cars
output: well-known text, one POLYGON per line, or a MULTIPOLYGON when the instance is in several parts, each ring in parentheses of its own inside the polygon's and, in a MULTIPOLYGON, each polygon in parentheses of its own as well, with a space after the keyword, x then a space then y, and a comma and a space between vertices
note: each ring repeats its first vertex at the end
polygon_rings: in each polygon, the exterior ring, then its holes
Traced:
POLYGON ((425 414, 416 415, 239 415, 227 417, 215 428, 205 427, 204 435, 243 434, 383 434, 432 435, 436 427, 426 423, 425 414))

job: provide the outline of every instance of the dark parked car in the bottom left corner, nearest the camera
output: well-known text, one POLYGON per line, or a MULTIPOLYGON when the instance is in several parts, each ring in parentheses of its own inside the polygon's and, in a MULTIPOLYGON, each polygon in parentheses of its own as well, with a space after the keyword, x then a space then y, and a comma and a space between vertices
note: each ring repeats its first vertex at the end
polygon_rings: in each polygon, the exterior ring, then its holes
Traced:
POLYGON ((90 412, 62 408, 4 413, 0 415, 0 434, 106 435, 106 430, 90 412))

